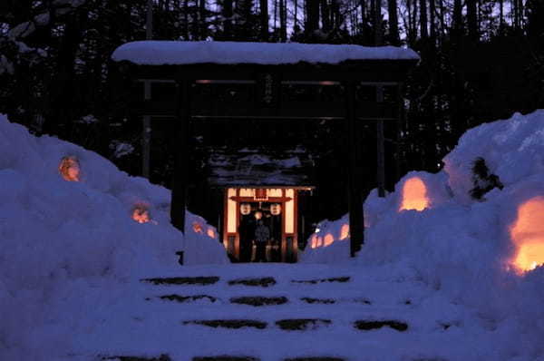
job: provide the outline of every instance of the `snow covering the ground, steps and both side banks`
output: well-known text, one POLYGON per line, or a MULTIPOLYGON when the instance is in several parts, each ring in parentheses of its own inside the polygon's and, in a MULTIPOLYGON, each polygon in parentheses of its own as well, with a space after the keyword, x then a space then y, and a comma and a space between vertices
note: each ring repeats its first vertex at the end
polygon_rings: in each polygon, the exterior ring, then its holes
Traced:
MULTIPOLYGON (((170 227, 167 190, 81 147, 35 138, 5 118, 0 152, 0 360, 160 354, 173 361, 212 355, 544 360, 544 268, 533 264, 540 262, 544 241, 544 111, 483 124, 463 135, 443 171, 411 172, 385 199, 373 192, 365 201, 365 245, 356 259, 346 257, 345 217, 322 223, 310 242, 315 248, 308 247, 297 265, 220 265, 227 262, 225 251, 208 236, 204 220, 190 216, 189 225, 198 222, 202 234, 188 231, 186 239, 170 227), (59 174, 64 156, 79 160, 80 181, 59 174), (478 157, 503 185, 484 200, 469 196, 478 157), (151 212, 148 223, 131 219, 140 204, 151 212), (180 249, 193 266, 177 264, 180 249), (140 282, 175 276, 217 276, 219 282, 140 282), (344 276, 350 281, 291 282, 344 276), (277 285, 228 286, 244 277, 274 277, 277 285), (158 298, 171 294, 216 301, 158 298), (288 301, 266 307, 229 302, 238 296, 288 301), (218 318, 268 325, 224 330, 183 324, 218 318), (286 331, 275 324, 285 318, 331 323, 286 331), (408 329, 353 327, 357 320, 386 319, 408 329)), ((477 182, 485 187, 489 180, 477 182)))

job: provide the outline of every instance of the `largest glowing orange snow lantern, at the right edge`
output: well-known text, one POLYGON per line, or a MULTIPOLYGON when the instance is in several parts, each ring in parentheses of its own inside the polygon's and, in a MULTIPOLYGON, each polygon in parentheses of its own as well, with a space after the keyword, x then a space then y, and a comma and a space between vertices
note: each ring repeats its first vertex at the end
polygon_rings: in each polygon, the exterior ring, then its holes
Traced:
POLYGON ((544 197, 520 205, 510 237, 518 248, 511 260, 518 270, 526 272, 544 264, 544 197))

